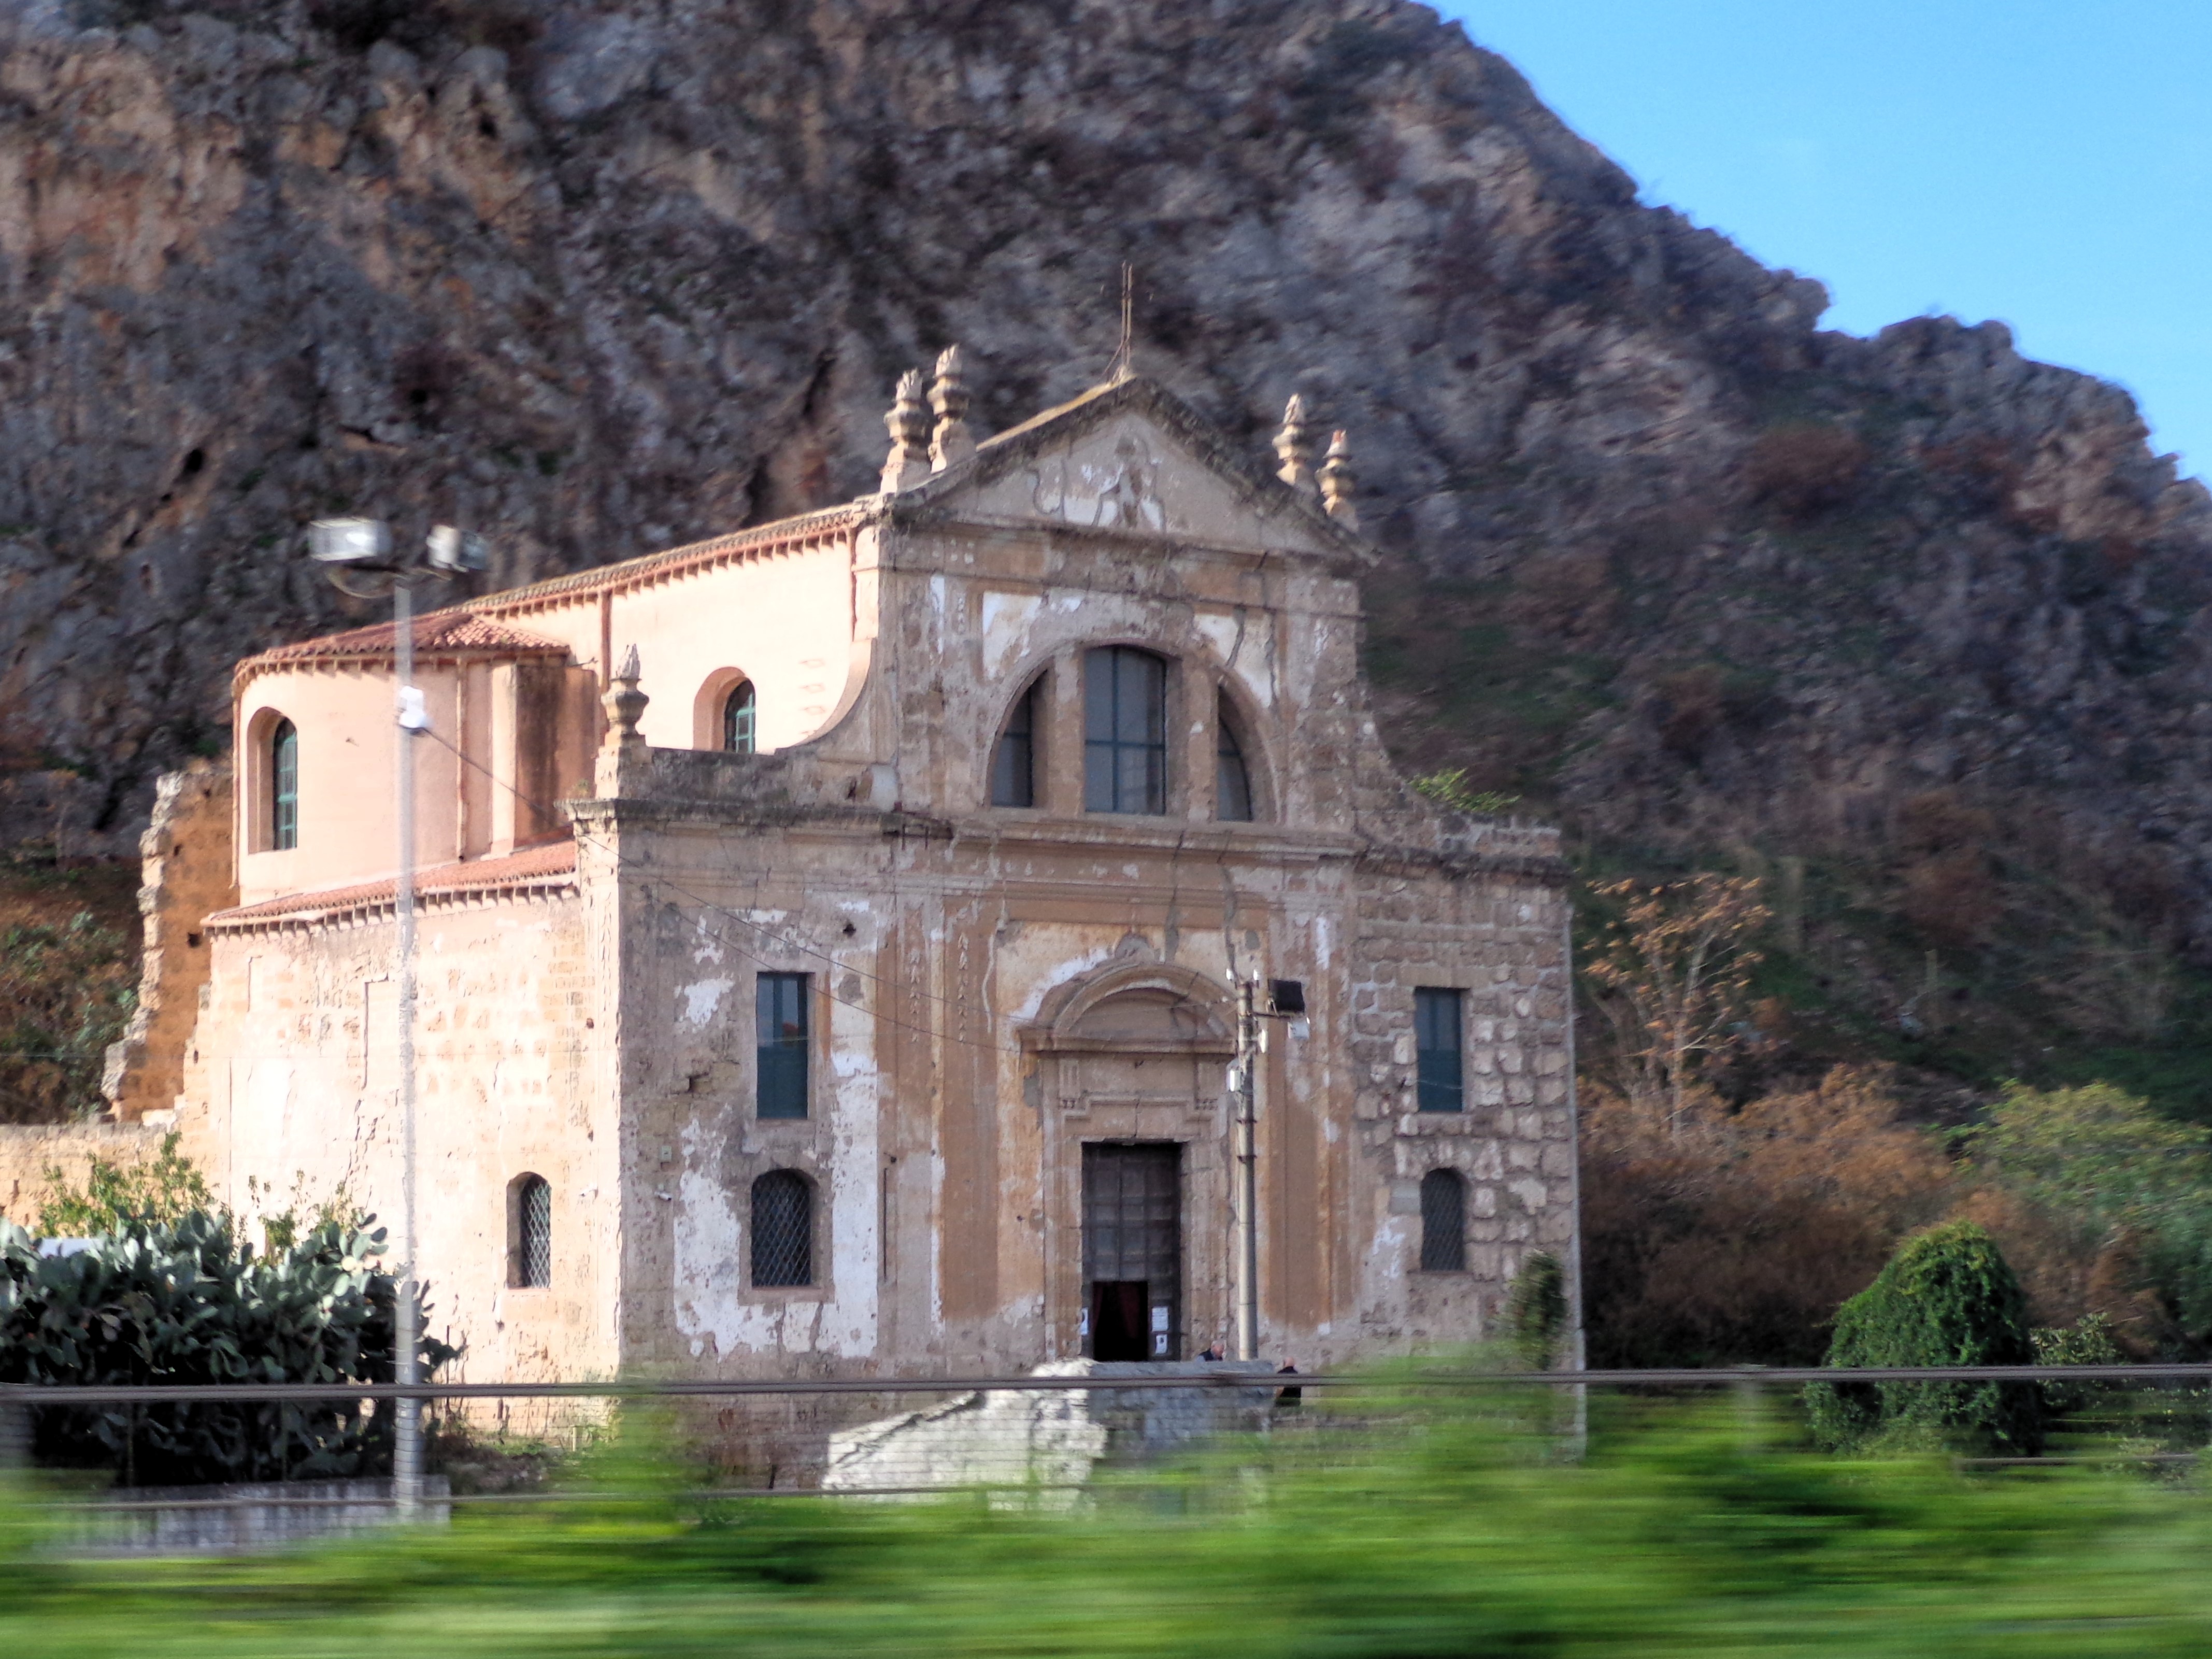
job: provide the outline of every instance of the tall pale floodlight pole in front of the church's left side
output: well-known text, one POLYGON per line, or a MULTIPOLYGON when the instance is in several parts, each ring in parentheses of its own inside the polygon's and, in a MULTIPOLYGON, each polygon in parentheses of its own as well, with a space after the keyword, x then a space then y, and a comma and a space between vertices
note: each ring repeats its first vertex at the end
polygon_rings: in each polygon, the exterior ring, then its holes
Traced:
MULTIPOLYGON (((394 1011, 398 1046, 400 1108, 400 1225, 398 1263, 392 1301, 392 1380, 411 1387, 422 1380, 418 1369, 422 1303, 416 1285, 416 1135, 414 1135, 414 739, 429 730, 422 690, 414 684, 414 588, 462 571, 484 568, 484 542, 451 524, 440 524, 425 542, 420 562, 392 555, 392 529, 374 518, 323 518, 307 526, 310 555, 327 566, 332 584, 356 599, 392 595, 394 653, 394 750, 398 796, 398 867, 392 880, 396 918, 394 953, 398 956, 398 1009, 394 1011)), ((392 1498, 400 1517, 422 1511, 422 1400, 400 1396, 392 1433, 392 1498)))

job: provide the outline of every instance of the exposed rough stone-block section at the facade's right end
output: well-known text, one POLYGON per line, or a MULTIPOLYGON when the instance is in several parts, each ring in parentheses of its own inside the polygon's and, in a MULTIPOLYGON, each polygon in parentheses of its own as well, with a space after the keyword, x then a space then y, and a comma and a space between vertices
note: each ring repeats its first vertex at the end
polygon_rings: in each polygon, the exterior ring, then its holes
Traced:
POLYGON ((1356 883, 1352 1071, 1367 1201, 1338 1239, 1363 1329, 1396 1347, 1489 1336, 1535 1250, 1575 1250, 1575 1124, 1564 874, 1422 869, 1376 858, 1356 883), (1464 1113, 1420 1113, 1413 991, 1464 993, 1464 1113), (1420 1270, 1420 1179, 1467 1183, 1467 1272, 1420 1270))

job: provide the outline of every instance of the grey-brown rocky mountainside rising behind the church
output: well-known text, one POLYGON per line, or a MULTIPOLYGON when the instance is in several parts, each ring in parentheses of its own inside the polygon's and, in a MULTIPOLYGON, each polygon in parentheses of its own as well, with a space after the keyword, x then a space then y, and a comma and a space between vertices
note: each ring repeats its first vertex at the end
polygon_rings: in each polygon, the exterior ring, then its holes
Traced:
POLYGON ((947 341, 984 427, 1097 380, 1124 261, 1254 453, 1356 434, 1409 763, 1776 874, 1836 1018, 2170 1026, 2205 491, 2000 323, 1823 332, 1389 0, 0 0, 7 834, 124 847, 361 615, 303 520, 509 584, 856 495, 947 341))

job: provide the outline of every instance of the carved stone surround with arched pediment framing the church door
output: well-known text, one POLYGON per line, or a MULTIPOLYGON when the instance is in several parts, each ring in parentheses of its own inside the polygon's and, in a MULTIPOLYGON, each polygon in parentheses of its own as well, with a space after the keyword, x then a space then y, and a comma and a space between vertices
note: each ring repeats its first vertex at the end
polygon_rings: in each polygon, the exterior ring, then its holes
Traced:
MULTIPOLYGON (((1048 1358, 1084 1349, 1084 1146, 1181 1146, 1179 1347, 1228 1334, 1230 993, 1175 962, 1115 962, 1046 998, 1022 1029, 1044 1110, 1044 1325, 1048 1358)), ((1265 1217, 1261 1217, 1265 1223, 1265 1217)))

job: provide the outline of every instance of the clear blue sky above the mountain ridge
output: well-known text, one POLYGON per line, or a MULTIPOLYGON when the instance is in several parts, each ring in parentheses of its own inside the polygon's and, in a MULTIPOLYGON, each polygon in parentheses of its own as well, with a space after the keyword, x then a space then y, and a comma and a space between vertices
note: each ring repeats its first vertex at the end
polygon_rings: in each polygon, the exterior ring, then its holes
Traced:
POLYGON ((2002 316, 2212 478, 2212 0, 1442 0, 1825 325, 2002 316))

